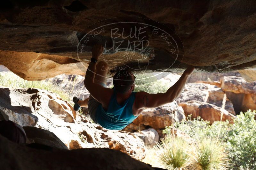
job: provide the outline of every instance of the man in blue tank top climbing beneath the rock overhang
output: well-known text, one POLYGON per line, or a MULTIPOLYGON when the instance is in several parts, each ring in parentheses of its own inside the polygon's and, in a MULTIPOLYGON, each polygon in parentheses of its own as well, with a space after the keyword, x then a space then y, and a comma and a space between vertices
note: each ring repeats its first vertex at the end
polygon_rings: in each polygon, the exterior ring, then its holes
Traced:
POLYGON ((118 71, 113 77, 114 88, 107 88, 108 64, 97 60, 103 53, 101 45, 92 48, 92 59, 87 68, 84 85, 90 92, 86 100, 73 98, 74 110, 88 107, 92 120, 106 129, 122 130, 132 123, 145 108, 156 108, 173 102, 182 92, 188 75, 195 67, 188 66, 180 79, 165 93, 134 92, 135 76, 129 70, 118 71), (96 64, 97 63, 97 64, 96 64))

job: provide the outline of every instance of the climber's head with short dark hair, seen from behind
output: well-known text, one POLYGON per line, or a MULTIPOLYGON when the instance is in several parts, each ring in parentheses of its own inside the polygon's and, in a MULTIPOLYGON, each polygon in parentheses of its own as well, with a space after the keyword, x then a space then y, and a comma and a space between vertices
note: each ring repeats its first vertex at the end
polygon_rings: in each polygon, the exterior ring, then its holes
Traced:
POLYGON ((134 82, 131 71, 121 70, 117 71, 113 77, 114 88, 118 93, 125 93, 130 90, 134 82))

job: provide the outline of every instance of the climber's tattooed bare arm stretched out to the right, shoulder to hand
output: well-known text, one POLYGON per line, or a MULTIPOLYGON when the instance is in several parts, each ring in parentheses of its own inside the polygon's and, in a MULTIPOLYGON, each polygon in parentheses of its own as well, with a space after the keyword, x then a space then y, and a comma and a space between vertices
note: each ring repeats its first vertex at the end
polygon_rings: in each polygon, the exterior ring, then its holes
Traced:
POLYGON ((138 92, 138 108, 156 108, 173 102, 180 96, 188 80, 188 76, 193 73, 194 69, 194 66, 188 66, 180 79, 165 93, 149 94, 147 92, 138 92))

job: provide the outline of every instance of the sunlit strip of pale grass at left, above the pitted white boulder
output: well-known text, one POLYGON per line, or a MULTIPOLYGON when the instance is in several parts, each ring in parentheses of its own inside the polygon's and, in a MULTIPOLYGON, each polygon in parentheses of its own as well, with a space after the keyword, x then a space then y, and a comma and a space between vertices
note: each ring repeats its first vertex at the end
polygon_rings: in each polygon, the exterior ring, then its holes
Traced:
POLYGON ((0 86, 11 88, 37 88, 52 91, 58 94, 63 100, 71 101, 69 92, 65 89, 58 87, 56 82, 53 81, 27 81, 20 78, 18 75, 7 72, 0 74, 0 86))

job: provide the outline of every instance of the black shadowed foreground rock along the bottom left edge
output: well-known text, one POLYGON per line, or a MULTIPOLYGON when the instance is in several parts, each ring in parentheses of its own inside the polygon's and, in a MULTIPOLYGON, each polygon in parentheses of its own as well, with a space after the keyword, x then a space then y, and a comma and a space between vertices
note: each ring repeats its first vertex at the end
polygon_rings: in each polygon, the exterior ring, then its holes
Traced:
POLYGON ((2 170, 154 169, 122 152, 108 148, 44 151, 10 142, 1 135, 0 152, 2 170))

